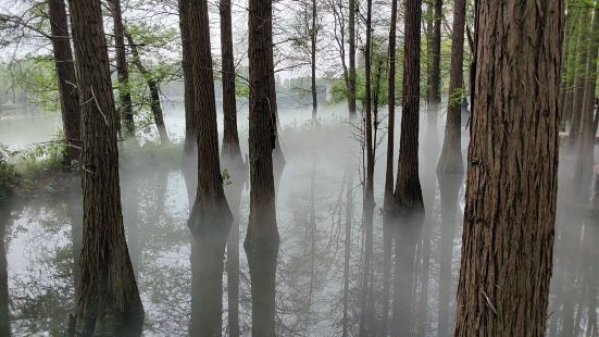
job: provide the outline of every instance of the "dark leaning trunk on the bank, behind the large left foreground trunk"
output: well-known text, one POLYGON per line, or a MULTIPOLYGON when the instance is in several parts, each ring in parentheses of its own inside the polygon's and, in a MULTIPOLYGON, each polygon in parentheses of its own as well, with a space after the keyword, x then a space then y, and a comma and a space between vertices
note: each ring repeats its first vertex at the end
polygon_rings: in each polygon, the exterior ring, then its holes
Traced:
POLYGON ((52 50, 59 78, 59 95, 62 112, 62 130, 66 140, 65 164, 71 166, 82 154, 82 124, 77 74, 71 50, 68 18, 64 0, 48 0, 48 16, 52 32, 52 50))

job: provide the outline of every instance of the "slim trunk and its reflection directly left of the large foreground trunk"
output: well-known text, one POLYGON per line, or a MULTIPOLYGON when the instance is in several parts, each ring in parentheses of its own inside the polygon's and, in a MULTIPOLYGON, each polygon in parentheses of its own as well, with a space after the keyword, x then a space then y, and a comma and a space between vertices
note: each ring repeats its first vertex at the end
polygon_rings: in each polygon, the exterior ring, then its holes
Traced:
POLYGON ((451 73, 449 79, 449 102, 441 157, 437 164, 437 177, 441 192, 441 238, 439 266, 438 336, 449 330, 449 298, 451 292, 451 258, 456 233, 458 196, 464 175, 462 163, 462 92, 464 63, 464 28, 466 2, 456 0, 451 43, 451 73))

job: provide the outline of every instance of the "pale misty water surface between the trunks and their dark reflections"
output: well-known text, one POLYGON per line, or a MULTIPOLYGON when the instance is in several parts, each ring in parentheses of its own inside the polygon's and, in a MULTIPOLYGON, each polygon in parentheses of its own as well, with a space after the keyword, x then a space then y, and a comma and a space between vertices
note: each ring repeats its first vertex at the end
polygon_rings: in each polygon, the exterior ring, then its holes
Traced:
MULTIPOLYGON (((287 165, 277 190, 277 221, 282 237, 276 276, 279 336, 341 335, 346 192, 347 179, 351 176, 353 180, 349 188, 354 202, 349 205, 353 221, 348 304, 350 336, 358 333, 363 252, 362 153, 355 139, 355 126, 345 121, 338 107, 322 109, 320 113, 323 118, 314 126, 307 122, 309 112, 282 112, 282 141, 287 165)), ((171 121, 178 121, 179 113, 172 112, 172 116, 171 121)), ((166 118, 169 121, 169 113, 166 118)), ((242 151, 247 152, 247 120, 241 120, 240 138, 242 151)), ((170 132, 176 134, 175 129, 180 126, 177 123, 171 122, 170 132)), ((397 123, 399 126, 399 121, 397 123)), ((437 134, 441 141, 442 123, 439 121, 437 134)), ((452 202, 457 216, 447 224, 441 221, 435 175, 438 143, 432 141, 432 134, 427 134, 425 118, 421 129, 420 165, 426 220, 421 237, 416 239, 411 317, 402 323, 409 324, 414 336, 437 336, 439 315, 446 316, 448 326, 441 327, 445 330, 442 336, 450 334, 454 313, 464 182, 457 182, 461 186, 452 202), (441 300, 440 292, 444 292, 441 298, 445 296, 441 300)), ((384 133, 382 129, 378 136, 384 133)), ((376 304, 373 310, 378 319, 378 302, 383 296, 379 208, 385 143, 386 140, 377 148, 375 173, 373 296, 376 304)), ((464 158, 466 149, 467 133, 464 132, 464 158)), ((597 336, 598 327, 592 320, 596 322, 598 314, 599 230, 595 227, 597 223, 588 219, 588 207, 571 197, 572 191, 567 188, 573 172, 571 161, 564 155, 561 162, 548 335, 597 336)), ((146 310, 145 336, 188 335, 191 320, 187 191, 180 170, 173 166, 176 165, 138 165, 132 160, 121 167, 126 235, 146 310)), ((249 271, 242 248, 248 213, 249 190, 246 186, 241 196, 239 242, 239 321, 245 336, 249 336, 251 324, 249 271)), ((0 247, 0 335, 3 336, 1 326, 7 324, 15 336, 58 336, 64 330, 66 315, 74 309, 80 222, 78 180, 65 185, 63 190, 40 192, 38 198, 25 202, 13 200, 0 210, 0 234, 3 235, 3 246, 0 247)), ((226 335, 226 276, 224 279, 223 328, 226 335)))

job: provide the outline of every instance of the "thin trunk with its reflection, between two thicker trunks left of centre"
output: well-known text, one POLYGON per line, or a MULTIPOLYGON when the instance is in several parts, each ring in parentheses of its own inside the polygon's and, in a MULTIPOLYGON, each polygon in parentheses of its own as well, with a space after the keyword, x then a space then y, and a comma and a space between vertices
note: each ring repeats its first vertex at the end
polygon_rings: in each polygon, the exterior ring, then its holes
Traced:
POLYGON ((233 212, 233 226, 227 240, 227 297, 228 333, 239 336, 239 208, 241 192, 247 177, 247 167, 241 158, 237 133, 237 103, 235 97, 235 59, 233 54, 232 1, 221 0, 221 54, 223 62, 223 115, 224 136, 221 151, 223 167, 227 168, 232 184, 225 187, 225 195, 233 212))

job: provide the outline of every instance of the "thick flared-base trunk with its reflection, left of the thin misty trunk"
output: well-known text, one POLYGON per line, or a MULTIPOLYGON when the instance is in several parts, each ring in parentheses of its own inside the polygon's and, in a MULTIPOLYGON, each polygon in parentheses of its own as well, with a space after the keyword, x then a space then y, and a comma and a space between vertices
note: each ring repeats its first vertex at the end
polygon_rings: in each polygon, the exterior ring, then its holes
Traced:
MULTIPOLYGON (((186 85, 198 118, 198 187, 187 226, 191 230, 191 326, 192 336, 220 336, 222 330, 223 258, 233 221, 221 176, 216 103, 210 45, 208 1, 186 1, 182 24, 189 33, 186 85)), ((188 105, 186 104, 186 109, 188 105)))

